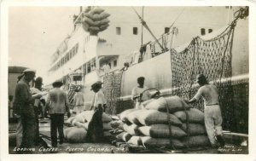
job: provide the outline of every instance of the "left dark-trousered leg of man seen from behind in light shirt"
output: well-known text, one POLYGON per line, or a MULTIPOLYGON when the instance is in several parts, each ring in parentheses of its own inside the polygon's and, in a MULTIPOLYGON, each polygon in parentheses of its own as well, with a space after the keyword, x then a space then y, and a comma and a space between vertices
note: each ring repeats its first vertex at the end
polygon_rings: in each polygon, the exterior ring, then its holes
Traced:
POLYGON ((51 146, 57 147, 57 118, 55 114, 50 115, 50 137, 51 137, 51 146))

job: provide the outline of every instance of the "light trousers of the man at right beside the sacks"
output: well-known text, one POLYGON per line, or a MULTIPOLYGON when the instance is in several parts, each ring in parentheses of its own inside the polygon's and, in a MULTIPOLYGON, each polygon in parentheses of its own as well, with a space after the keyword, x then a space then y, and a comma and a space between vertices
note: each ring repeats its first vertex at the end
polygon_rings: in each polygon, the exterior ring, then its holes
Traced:
POLYGON ((218 105, 205 106, 205 125, 212 145, 216 145, 215 135, 222 135, 222 116, 218 105))

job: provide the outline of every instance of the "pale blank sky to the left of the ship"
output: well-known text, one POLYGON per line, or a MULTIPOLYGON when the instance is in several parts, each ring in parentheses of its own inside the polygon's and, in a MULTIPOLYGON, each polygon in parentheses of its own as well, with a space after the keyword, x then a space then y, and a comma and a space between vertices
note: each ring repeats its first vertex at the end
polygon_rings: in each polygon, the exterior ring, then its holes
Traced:
POLYGON ((10 7, 9 66, 37 70, 47 77, 49 57, 73 31, 79 7, 10 7))

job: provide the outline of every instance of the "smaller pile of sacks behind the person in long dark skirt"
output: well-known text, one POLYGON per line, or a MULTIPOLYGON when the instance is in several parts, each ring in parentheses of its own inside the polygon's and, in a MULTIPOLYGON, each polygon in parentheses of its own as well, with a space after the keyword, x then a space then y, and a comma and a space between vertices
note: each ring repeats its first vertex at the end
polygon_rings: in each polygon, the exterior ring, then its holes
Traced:
MULTIPOLYGON (((68 118, 65 124, 69 127, 64 129, 64 137, 68 142, 84 142, 85 136, 87 134, 88 125, 94 114, 94 111, 84 111, 76 115, 75 117, 68 118)), ((111 127, 112 118, 108 114, 102 114, 103 130, 104 136, 107 137, 111 135, 109 130, 113 129, 111 127)))

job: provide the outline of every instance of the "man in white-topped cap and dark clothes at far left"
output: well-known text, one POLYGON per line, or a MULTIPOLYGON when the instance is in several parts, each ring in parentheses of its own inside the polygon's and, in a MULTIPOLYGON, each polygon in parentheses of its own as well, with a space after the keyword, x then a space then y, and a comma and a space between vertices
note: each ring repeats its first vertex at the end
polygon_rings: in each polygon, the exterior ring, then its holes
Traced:
POLYGON ((29 83, 35 78, 36 71, 32 69, 26 69, 23 75, 20 76, 15 89, 15 103, 14 112, 20 116, 19 124, 17 127, 17 143, 18 147, 29 148, 34 146, 35 136, 35 112, 33 108, 33 100, 40 98, 41 95, 32 95, 29 83), (22 132, 21 143, 20 133, 22 132))

